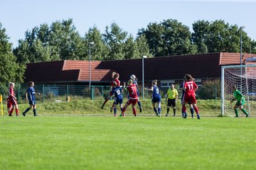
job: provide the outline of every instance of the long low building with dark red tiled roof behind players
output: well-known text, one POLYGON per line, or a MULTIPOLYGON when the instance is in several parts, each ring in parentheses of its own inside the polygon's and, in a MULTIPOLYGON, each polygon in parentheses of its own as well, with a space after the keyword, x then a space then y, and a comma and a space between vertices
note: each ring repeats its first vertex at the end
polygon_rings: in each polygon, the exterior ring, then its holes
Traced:
MULTIPOLYGON (((242 63, 255 54, 242 56, 242 63)), ((144 59, 144 81, 150 86, 154 79, 161 81, 161 86, 181 81, 185 74, 191 74, 196 81, 220 79, 221 66, 240 64, 240 53, 213 53, 203 55, 181 55, 171 57, 150 57, 144 59)), ((120 81, 127 81, 130 74, 135 74, 142 82, 142 59, 92 61, 91 82, 107 85, 111 81, 111 73, 118 72, 120 81)), ((25 82, 36 84, 89 84, 88 61, 57 61, 27 64, 25 82)))

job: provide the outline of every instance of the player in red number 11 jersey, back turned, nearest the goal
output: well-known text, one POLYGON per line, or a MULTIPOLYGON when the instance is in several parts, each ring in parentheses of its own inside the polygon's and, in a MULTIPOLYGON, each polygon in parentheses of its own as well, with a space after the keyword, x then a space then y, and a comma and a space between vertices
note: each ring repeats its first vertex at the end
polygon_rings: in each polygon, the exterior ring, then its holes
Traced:
POLYGON ((198 86, 196 85, 195 81, 193 81, 193 78, 190 74, 186 74, 184 79, 186 80, 184 82, 184 90, 185 95, 183 96, 183 102, 182 102, 182 111, 183 113, 186 113, 186 103, 191 103, 193 105, 194 110, 196 111, 197 118, 200 119, 199 111, 196 106, 196 94, 195 92, 198 89, 198 86))

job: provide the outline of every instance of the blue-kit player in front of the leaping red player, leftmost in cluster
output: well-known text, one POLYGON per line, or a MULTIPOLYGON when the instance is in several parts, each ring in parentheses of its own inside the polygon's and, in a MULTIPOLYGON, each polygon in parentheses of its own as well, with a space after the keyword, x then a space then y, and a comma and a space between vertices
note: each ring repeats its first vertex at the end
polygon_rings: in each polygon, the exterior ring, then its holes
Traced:
POLYGON ((122 91, 125 88, 124 86, 118 86, 117 82, 114 82, 114 88, 112 89, 112 94, 114 94, 114 116, 117 116, 117 105, 119 104, 122 112, 122 91))

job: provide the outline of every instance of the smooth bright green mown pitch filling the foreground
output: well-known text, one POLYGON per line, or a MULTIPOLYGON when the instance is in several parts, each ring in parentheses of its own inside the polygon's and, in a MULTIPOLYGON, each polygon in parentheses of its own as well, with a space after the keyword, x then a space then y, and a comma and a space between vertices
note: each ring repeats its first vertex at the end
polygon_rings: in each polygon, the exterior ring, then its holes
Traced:
POLYGON ((255 169, 256 118, 0 117, 0 169, 255 169))

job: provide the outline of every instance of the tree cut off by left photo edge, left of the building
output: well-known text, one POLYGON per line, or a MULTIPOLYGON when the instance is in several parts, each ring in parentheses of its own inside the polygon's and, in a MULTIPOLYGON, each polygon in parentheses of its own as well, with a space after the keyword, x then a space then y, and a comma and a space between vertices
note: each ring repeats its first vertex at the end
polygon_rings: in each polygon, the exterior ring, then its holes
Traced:
POLYGON ((11 52, 11 43, 6 35, 6 29, 0 23, 0 82, 23 81, 24 66, 17 64, 16 57, 11 52))

